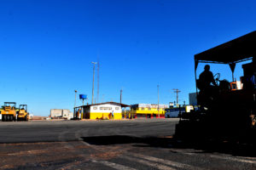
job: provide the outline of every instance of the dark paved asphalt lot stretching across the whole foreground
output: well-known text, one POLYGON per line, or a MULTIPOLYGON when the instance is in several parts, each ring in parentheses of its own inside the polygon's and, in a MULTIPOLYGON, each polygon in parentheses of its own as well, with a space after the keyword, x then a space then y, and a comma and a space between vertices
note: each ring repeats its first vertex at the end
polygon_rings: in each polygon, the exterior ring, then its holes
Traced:
POLYGON ((251 146, 174 139, 177 122, 0 122, 0 169, 256 169, 251 146))

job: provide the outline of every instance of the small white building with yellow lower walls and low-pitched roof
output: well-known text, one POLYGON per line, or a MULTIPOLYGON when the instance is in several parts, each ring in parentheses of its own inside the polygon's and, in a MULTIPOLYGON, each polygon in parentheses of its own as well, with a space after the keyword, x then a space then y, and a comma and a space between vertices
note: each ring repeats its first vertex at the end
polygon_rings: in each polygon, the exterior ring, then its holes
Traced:
POLYGON ((93 105, 81 105, 74 108, 74 117, 76 119, 122 119, 122 108, 130 105, 116 102, 105 102, 93 105), (113 116, 112 116, 113 112, 113 116))

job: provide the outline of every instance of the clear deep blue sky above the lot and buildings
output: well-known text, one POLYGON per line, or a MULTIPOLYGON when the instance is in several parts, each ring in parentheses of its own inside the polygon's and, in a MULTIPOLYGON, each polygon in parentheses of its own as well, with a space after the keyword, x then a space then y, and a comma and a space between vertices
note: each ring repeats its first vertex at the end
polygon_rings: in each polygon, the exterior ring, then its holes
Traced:
MULTIPOLYGON (((125 104, 157 103, 159 84, 160 103, 176 99, 172 88, 188 103, 194 54, 256 30, 255 8, 241 0, 2 0, 0 103, 42 116, 73 111, 75 89, 91 101, 97 58, 100 101, 119 102, 123 88, 125 104)), ((229 66, 216 68, 231 77, 229 66)))

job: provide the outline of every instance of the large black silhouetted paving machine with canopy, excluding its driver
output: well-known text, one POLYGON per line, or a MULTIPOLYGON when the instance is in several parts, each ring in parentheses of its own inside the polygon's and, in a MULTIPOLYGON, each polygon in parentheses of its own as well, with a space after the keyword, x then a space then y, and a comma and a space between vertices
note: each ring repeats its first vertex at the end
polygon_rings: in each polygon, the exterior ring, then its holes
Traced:
POLYGON ((204 94, 196 80, 199 109, 181 114, 175 135, 239 140, 253 137, 256 134, 256 31, 195 54, 195 79, 200 63, 230 65, 233 81, 220 80, 218 73, 215 76, 218 86, 204 94), (236 64, 243 61, 247 64, 242 65, 243 76, 237 88, 234 71, 236 64))

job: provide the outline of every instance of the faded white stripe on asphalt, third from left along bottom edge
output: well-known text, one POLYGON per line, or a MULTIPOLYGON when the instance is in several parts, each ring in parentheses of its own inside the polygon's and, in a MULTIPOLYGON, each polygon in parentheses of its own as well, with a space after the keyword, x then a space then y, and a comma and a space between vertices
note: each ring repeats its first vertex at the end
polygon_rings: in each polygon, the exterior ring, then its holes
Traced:
POLYGON ((172 167, 180 167, 180 168, 184 168, 184 169, 198 169, 198 170, 203 170, 204 169, 204 168, 201 168, 201 167, 195 167, 195 166, 191 166, 191 165, 188 165, 188 164, 179 163, 177 161, 164 160, 164 159, 156 158, 156 157, 153 157, 153 156, 143 156, 141 154, 136 154, 136 153, 132 153, 131 155, 132 156, 137 156, 139 158, 146 159, 148 161, 156 161, 156 162, 159 162, 159 163, 164 163, 164 164, 170 165, 172 167))

